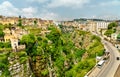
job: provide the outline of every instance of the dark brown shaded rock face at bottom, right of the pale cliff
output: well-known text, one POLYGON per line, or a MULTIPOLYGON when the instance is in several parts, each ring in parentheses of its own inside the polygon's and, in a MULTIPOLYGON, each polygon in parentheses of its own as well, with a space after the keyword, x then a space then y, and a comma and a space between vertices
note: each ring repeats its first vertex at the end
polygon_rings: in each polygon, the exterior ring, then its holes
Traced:
POLYGON ((39 55, 35 56, 34 59, 31 58, 29 61, 35 77, 49 77, 46 58, 39 55))

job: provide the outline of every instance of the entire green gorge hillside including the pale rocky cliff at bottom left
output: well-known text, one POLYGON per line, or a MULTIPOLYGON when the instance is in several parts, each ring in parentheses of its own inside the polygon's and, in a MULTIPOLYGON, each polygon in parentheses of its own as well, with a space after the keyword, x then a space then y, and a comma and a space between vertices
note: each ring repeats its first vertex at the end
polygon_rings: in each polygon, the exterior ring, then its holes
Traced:
POLYGON ((101 39, 89 32, 62 33, 52 25, 44 35, 39 28, 28 30, 30 34, 20 40, 26 45, 25 51, 1 52, 1 76, 83 77, 95 65, 96 54, 104 52, 101 39))

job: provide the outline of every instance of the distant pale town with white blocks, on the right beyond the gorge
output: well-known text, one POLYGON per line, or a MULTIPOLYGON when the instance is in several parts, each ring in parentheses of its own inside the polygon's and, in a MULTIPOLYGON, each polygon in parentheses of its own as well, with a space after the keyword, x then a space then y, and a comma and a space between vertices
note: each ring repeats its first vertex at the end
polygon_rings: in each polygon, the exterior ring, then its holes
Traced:
POLYGON ((62 24, 62 29, 64 31, 74 31, 74 30, 83 30, 91 33, 96 33, 99 36, 102 36, 104 39, 107 39, 111 42, 118 43, 118 38, 120 36, 120 20, 95 20, 95 19, 86 19, 86 20, 73 20, 73 21, 61 21, 57 24, 62 24), (115 32, 110 33, 110 35, 105 35, 105 32, 108 30, 108 25, 115 23, 114 27, 115 32), (117 38, 118 37, 118 38, 117 38))

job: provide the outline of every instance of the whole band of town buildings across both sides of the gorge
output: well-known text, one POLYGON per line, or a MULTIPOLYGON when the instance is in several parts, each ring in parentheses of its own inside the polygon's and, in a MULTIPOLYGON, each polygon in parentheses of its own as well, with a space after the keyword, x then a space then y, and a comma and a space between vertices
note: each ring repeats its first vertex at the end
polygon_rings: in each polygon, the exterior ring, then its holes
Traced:
MULTIPOLYGON (((40 34, 45 34, 50 32, 48 30, 49 25, 62 25, 62 30, 66 32, 72 32, 74 30, 83 30, 88 32, 94 32, 100 36, 103 36, 105 39, 117 43, 119 39, 117 37, 120 36, 120 21, 119 20, 93 20, 93 19, 86 19, 86 20, 73 20, 73 21, 53 21, 53 20, 42 20, 40 18, 22 18, 19 17, 5 17, 0 16, 0 24, 1 25, 9 25, 12 26, 10 28, 5 28, 3 30, 4 37, 0 37, 0 42, 11 42, 12 49, 15 47, 20 48, 18 45, 19 40, 22 38, 23 35, 27 35, 30 32, 27 29, 22 29, 18 26, 20 20, 22 20, 22 26, 34 26, 40 28, 40 34), (116 31, 111 33, 108 37, 105 35, 105 32, 108 30, 108 25, 110 23, 116 23, 117 26, 114 27, 116 31)), ((21 46, 25 47, 25 46, 21 46)))

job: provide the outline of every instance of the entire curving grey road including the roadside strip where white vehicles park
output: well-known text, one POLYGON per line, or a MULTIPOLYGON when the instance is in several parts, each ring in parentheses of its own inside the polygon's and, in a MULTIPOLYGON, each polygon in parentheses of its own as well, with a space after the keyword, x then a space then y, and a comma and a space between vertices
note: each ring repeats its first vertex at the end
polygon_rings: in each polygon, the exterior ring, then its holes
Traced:
MULTIPOLYGON (((101 37, 100 35, 93 33, 101 37)), ((95 67, 94 70, 88 75, 88 77, 114 77, 115 72, 117 71, 120 60, 116 60, 116 57, 120 57, 120 53, 110 42, 107 42, 101 37, 102 43, 104 44, 105 49, 110 52, 110 58, 102 68, 95 67)))

